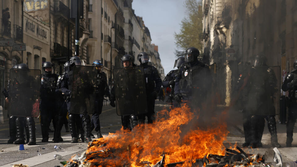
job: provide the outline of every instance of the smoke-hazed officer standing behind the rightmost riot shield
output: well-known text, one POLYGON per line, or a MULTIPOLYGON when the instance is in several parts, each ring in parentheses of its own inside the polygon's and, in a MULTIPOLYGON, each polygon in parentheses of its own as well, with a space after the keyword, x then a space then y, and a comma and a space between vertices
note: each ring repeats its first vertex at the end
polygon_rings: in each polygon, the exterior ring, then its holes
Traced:
POLYGON ((273 147, 278 143, 275 121, 274 94, 278 92, 277 79, 272 67, 266 65, 266 57, 257 55, 245 78, 244 110, 250 114, 250 143, 253 148, 262 147, 261 139, 267 121, 273 147))

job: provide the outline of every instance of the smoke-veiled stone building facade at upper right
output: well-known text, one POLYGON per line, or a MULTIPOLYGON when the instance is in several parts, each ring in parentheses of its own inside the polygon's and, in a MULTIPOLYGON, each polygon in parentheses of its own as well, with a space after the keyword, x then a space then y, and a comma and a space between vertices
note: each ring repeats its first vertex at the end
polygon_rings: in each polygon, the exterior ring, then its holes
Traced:
MULTIPOLYGON (((264 54, 268 66, 281 66, 281 78, 297 59, 295 0, 203 0, 203 56, 217 63, 221 104, 230 105, 244 64, 264 54)), ((283 77, 283 78, 282 78, 283 77)))

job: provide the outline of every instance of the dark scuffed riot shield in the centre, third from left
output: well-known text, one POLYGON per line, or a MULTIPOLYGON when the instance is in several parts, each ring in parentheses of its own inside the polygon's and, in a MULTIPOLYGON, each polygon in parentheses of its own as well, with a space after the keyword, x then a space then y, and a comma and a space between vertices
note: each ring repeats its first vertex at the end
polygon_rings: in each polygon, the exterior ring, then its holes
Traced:
POLYGON ((113 76, 117 114, 147 113, 143 67, 115 68, 113 76))

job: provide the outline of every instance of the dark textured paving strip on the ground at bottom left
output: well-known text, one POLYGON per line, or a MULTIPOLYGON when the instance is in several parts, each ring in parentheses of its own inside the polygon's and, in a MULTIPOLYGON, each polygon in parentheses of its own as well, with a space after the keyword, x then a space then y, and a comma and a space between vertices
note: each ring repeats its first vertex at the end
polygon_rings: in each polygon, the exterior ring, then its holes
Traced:
POLYGON ((67 148, 67 147, 75 146, 77 144, 62 144, 62 143, 45 144, 45 145, 40 145, 36 147, 25 148, 25 150, 21 150, 21 151, 5 152, 0 154, 0 166, 9 164, 11 162, 32 158, 34 156, 38 156, 39 153, 46 154, 49 152, 54 152, 56 151, 54 149, 55 145, 59 145, 59 146, 62 146, 63 148, 67 148))

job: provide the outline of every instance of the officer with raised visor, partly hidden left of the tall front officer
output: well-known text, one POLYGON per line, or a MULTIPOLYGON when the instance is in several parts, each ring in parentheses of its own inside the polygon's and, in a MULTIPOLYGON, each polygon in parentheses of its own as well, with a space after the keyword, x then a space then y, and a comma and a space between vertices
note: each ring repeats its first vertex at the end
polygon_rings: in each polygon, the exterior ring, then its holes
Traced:
MULTIPOLYGON (((177 67, 178 69, 176 70, 171 70, 165 77, 165 79, 162 82, 162 86, 163 88, 166 87, 171 87, 171 92, 169 95, 170 101, 171 103, 173 103, 174 100, 174 86, 175 86, 175 76, 177 76, 179 74, 179 68, 180 66, 182 66, 182 64, 185 62, 185 57, 179 57, 177 58, 177 60, 175 60, 174 62, 174 67, 177 67)), ((173 68, 174 68, 173 67, 173 68)), ((174 106, 176 106, 177 104, 173 104, 174 106)))

